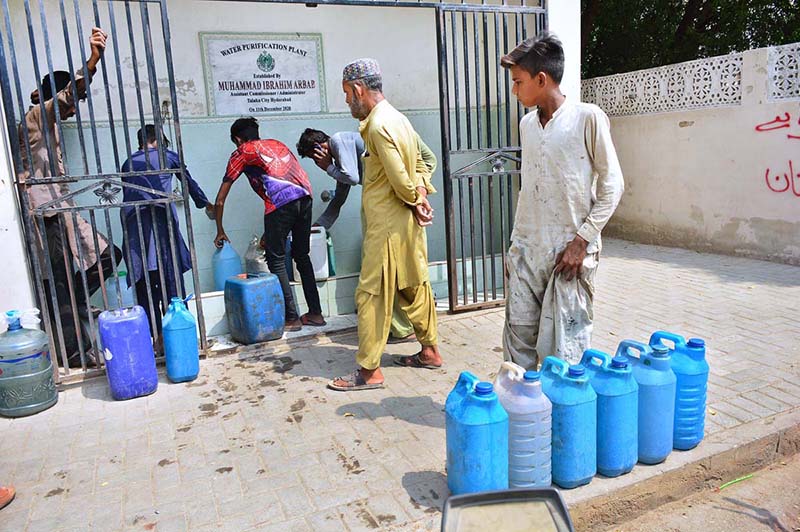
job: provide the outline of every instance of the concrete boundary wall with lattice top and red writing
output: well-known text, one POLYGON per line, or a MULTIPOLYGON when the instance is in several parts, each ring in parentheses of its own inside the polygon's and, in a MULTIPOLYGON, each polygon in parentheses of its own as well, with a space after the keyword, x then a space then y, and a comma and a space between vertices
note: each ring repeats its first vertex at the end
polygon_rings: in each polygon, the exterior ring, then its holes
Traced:
POLYGON ((800 44, 584 80, 626 190, 609 236, 800 264, 800 44))

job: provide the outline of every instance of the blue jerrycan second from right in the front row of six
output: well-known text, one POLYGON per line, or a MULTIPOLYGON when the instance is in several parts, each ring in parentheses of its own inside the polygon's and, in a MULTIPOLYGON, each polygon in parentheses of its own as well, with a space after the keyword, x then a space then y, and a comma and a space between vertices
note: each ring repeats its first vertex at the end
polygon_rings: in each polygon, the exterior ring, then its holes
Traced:
POLYGON ((639 385, 639 461, 658 464, 672 451, 675 373, 670 368, 669 349, 623 340, 617 356, 623 355, 633 362, 633 378, 639 385))

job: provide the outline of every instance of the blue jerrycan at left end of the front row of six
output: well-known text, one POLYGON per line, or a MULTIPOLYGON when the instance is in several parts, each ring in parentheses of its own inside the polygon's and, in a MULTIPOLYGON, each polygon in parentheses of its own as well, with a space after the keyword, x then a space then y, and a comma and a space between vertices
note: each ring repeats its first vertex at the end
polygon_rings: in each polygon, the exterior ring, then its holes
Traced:
POLYGON ((447 486, 453 495, 508 489, 508 414, 491 383, 465 373, 445 403, 447 486))

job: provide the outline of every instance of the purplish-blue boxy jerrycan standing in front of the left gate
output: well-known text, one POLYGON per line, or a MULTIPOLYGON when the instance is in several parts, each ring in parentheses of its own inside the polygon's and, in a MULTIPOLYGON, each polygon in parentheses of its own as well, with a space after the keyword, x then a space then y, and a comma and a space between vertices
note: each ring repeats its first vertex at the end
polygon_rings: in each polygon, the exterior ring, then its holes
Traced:
POLYGON ((112 397, 120 401, 155 392, 158 372, 144 309, 106 310, 98 321, 112 397))

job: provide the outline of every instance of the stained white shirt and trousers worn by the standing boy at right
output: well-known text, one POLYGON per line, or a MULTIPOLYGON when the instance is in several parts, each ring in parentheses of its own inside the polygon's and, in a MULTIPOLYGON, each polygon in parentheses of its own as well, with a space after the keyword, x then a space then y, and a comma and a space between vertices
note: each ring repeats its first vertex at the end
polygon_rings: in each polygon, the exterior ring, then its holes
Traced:
POLYGON ((596 105, 565 101, 542 127, 520 121, 522 188, 511 248, 503 353, 528 369, 555 355, 577 363, 591 343, 600 231, 624 190, 610 123, 596 105), (589 245, 578 278, 553 275, 579 235, 589 245))

